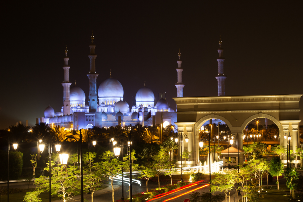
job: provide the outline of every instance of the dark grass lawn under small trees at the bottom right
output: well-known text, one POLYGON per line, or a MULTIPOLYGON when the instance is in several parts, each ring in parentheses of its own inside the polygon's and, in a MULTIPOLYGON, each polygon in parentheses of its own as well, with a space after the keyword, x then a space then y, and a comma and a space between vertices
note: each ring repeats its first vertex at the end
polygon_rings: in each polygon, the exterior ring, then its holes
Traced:
MULTIPOLYGON (((266 187, 266 186, 265 186, 266 187)), ((264 188, 263 192, 261 194, 264 194, 264 198, 259 200, 260 202, 286 202, 289 201, 286 198, 286 194, 289 195, 289 189, 286 187, 286 185, 280 185, 279 186, 280 190, 277 190, 277 186, 273 188, 273 190, 269 190, 267 188, 264 188), (267 194, 266 194, 267 191, 267 194)), ((242 200, 240 200, 242 201, 242 200)), ((244 200, 246 202, 246 200, 244 200)))

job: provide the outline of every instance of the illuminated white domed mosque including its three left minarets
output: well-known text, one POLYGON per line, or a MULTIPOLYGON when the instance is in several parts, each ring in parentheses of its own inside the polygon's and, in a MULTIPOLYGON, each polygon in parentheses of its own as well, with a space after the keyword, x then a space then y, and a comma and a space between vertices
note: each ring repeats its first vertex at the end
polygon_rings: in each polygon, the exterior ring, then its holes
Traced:
MULTIPOLYGON (((79 130, 81 128, 111 127, 121 123, 123 125, 142 124, 150 126, 153 124, 163 124, 165 127, 168 124, 177 122, 176 112, 169 107, 167 101, 163 98, 159 99, 155 104, 155 95, 151 89, 145 86, 140 88, 136 94, 136 106, 129 106, 123 100, 124 89, 122 84, 112 77, 110 71, 109 78, 102 81, 98 88, 96 79, 98 73, 95 69, 95 44, 94 36, 91 36, 92 43, 90 47, 90 71, 87 74, 89 79, 89 94, 88 101, 82 88, 72 85, 69 81, 68 71, 69 65, 67 57, 67 48, 65 49, 65 65, 63 86, 63 105, 61 111, 55 110, 48 106, 44 111, 44 117, 37 118, 36 122, 45 122, 50 125, 60 125, 68 130, 79 130), (97 98, 98 97, 98 98, 97 98), (85 104, 88 103, 88 104, 85 104), (121 121, 121 122, 120 122, 121 121)), ((179 52, 178 62, 178 83, 177 94, 178 97, 183 97, 184 84, 182 83, 182 68, 179 52)))

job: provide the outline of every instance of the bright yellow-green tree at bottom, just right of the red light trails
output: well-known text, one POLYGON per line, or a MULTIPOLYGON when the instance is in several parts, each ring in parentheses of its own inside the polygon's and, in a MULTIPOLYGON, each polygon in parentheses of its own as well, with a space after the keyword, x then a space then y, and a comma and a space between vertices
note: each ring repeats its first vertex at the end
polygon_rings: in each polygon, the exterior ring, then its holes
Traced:
POLYGON ((230 191, 235 184, 235 178, 232 174, 218 174, 215 173, 216 177, 211 180, 210 188, 211 192, 223 192, 225 194, 225 202, 227 202, 227 193, 230 191))

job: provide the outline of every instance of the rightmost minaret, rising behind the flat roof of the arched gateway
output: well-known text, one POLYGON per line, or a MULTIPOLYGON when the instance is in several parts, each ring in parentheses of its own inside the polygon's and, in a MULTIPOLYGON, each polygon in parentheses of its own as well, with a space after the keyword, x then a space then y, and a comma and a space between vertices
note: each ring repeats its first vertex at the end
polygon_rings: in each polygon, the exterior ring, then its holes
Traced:
POLYGON ((221 37, 220 37, 220 40, 219 40, 219 46, 220 46, 220 48, 218 48, 219 57, 217 58, 219 73, 218 73, 218 76, 216 76, 216 79, 218 81, 218 96, 225 96, 225 79, 226 79, 226 76, 224 76, 224 72, 223 72, 224 58, 223 58, 223 48, 222 48, 221 37))

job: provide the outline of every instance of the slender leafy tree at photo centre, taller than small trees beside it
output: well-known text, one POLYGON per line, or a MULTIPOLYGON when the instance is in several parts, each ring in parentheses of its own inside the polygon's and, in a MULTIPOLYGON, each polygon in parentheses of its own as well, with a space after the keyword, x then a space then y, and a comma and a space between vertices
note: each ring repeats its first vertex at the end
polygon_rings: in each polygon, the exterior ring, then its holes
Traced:
POLYGON ((155 156, 154 161, 152 162, 152 167, 158 177, 158 187, 160 189, 159 175, 163 172, 164 169, 168 169, 170 167, 169 157, 163 148, 161 148, 159 153, 155 156))

